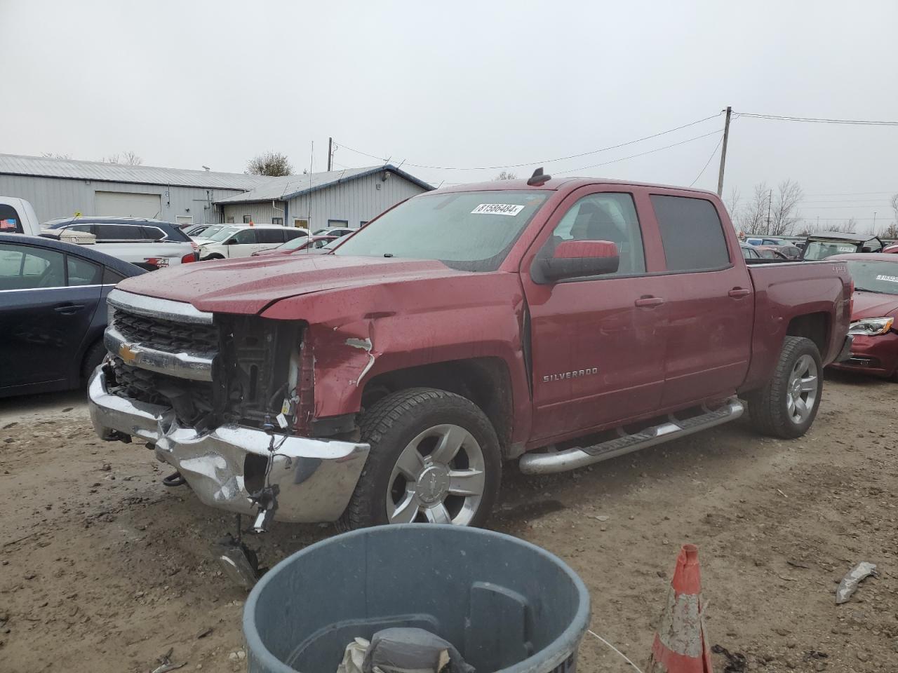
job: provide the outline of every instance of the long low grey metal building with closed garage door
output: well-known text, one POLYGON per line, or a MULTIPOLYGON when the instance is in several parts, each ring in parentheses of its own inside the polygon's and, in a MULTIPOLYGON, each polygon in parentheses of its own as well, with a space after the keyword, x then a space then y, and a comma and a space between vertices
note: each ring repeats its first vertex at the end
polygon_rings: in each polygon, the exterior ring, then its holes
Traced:
POLYGON ((79 213, 155 217, 180 224, 216 222, 216 200, 270 179, 0 154, 0 195, 31 201, 40 222, 79 213))

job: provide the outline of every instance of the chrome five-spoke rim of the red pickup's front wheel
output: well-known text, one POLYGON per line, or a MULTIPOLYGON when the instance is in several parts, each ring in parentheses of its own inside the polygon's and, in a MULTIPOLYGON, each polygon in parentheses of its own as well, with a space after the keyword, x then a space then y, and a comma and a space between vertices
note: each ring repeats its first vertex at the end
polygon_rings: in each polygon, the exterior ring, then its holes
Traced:
POLYGON ((434 425, 402 450, 387 485, 390 523, 467 526, 485 488, 480 443, 460 425, 434 425))

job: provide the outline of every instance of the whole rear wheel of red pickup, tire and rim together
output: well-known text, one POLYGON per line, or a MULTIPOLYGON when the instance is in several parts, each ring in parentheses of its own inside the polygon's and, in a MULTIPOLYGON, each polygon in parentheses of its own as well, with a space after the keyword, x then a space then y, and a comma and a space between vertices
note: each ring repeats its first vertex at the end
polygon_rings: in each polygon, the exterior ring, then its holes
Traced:
POLYGON ((764 434, 794 439, 805 434, 823 397, 823 364, 810 339, 786 337, 773 376, 748 396, 754 426, 764 434))

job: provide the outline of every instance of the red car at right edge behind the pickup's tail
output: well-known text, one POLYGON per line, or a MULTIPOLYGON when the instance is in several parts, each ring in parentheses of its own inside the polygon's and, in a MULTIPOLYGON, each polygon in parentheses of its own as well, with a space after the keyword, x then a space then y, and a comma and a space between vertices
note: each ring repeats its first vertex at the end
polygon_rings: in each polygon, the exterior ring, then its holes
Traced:
POLYGON ((854 281, 851 357, 833 368, 898 381, 898 256, 855 253, 827 261, 844 262, 854 281))

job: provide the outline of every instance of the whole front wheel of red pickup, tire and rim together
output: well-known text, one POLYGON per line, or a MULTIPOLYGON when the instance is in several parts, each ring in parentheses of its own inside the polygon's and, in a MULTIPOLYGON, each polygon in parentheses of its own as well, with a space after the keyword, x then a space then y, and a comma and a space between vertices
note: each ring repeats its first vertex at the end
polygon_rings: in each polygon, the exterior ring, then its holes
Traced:
POLYGON ((471 400, 401 390, 367 409, 360 426, 371 452, 347 508, 349 528, 487 520, 502 460, 496 431, 471 400))

